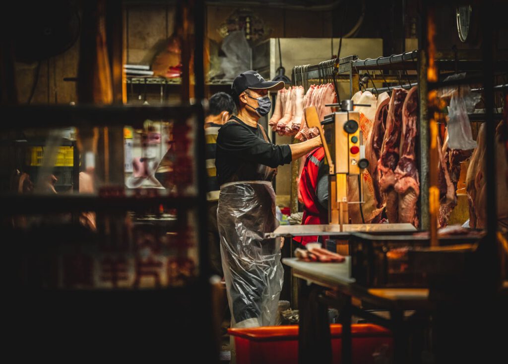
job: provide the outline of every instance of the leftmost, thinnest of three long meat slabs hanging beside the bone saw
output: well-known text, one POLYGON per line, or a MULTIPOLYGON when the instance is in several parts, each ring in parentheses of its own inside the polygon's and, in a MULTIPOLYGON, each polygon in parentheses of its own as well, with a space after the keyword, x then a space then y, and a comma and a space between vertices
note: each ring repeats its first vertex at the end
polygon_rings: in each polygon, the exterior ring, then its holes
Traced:
POLYGON ((383 140, 385 138, 386 119, 388 117, 388 104, 390 103, 390 95, 383 92, 377 97, 376 113, 372 120, 372 128, 370 129, 365 143, 365 157, 369 161, 369 174, 372 177, 372 185, 374 188, 374 196, 377 201, 377 207, 383 208, 386 204, 385 195, 379 188, 379 178, 377 172, 377 161, 381 155, 383 140))

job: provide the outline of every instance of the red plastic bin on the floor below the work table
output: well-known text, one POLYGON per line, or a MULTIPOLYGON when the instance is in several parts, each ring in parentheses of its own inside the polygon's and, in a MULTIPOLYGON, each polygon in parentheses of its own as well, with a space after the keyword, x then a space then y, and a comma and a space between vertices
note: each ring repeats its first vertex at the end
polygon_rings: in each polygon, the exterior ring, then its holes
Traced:
MULTIPOLYGON (((298 325, 229 329, 235 338, 238 364, 298 364, 298 325)), ((342 325, 331 324, 333 363, 341 362, 342 325)), ((369 323, 351 325, 353 362, 374 363, 376 355, 392 354, 392 333, 369 323)))

